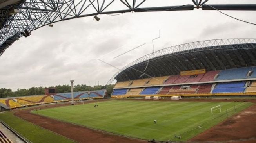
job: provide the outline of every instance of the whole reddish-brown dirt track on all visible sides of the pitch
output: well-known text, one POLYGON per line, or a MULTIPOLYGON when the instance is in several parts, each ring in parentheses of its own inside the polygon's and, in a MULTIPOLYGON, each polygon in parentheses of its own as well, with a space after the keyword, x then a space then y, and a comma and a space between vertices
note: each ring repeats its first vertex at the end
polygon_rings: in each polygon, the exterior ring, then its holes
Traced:
MULTIPOLYGON (((167 100, 163 100, 167 101, 167 100)), ((170 101, 170 100, 168 100, 170 101)), ((211 99, 184 99, 181 101, 218 101, 218 102, 256 102, 256 100, 211 100, 211 99)), ((65 106, 67 104, 54 104, 54 105, 42 105, 41 109, 52 108, 57 106, 65 106)), ((107 132, 88 129, 86 127, 74 125, 71 123, 65 123, 51 118, 39 116, 30 113, 33 109, 39 107, 33 107, 25 110, 18 110, 14 114, 20 118, 23 118, 29 122, 39 125, 45 129, 51 130, 62 136, 73 139, 80 143, 145 143, 147 141, 126 138, 107 132)), ((249 107, 248 109, 228 118, 227 120, 219 123, 218 125, 206 130, 198 136, 190 139, 189 141, 230 141, 239 139, 256 138, 256 105, 249 107)), ((256 143, 256 139, 247 141, 236 141, 236 143, 256 143)))

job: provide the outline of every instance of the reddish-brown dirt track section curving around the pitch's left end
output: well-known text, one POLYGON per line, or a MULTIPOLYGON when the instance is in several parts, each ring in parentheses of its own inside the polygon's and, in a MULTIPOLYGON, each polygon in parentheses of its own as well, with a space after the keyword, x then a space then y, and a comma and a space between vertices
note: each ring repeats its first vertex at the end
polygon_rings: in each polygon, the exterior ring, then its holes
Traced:
MULTIPOLYGON (((70 105, 68 104, 56 104, 40 106, 41 109, 70 105)), ((29 108, 22 111, 17 111, 14 113, 15 116, 23 118, 31 123, 39 125, 45 129, 51 130, 65 136, 67 138, 73 139, 79 143, 145 143, 147 141, 126 138, 123 136, 118 136, 115 134, 110 134, 107 132, 102 132, 98 130, 88 129, 79 125, 74 125, 71 123, 65 123, 51 118, 46 118, 43 116, 38 116, 36 114, 30 113, 33 109, 38 109, 39 107, 29 108)))

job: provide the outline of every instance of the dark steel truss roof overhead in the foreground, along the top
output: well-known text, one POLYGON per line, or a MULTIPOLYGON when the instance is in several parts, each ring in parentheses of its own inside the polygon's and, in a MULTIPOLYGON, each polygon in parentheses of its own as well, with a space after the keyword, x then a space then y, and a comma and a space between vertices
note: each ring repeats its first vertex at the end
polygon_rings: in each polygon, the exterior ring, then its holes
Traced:
MULTIPOLYGON (((30 33, 45 25, 73 18, 98 14, 202 10, 256 10, 256 4, 206 5, 208 0, 191 0, 191 4, 174 6, 166 4, 149 7, 143 4, 149 0, 0 0, 0 56, 24 30, 30 33), (15 11, 15 13, 14 13, 15 11)), ((26 35, 26 34, 25 34, 26 35)), ((29 34, 28 34, 29 35, 29 34)))

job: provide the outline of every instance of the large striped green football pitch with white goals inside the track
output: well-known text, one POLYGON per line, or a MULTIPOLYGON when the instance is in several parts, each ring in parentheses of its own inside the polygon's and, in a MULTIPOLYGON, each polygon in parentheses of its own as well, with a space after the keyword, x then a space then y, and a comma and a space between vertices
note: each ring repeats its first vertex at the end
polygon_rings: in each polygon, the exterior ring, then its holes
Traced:
POLYGON ((106 101, 56 107, 33 113, 123 136, 186 141, 252 105, 250 102, 106 101), (222 113, 211 107, 221 105, 222 113), (226 114, 226 109, 228 114, 226 114), (157 120, 156 124, 153 121, 157 120), (202 128, 198 128, 198 126, 202 128), (181 135, 182 139, 175 138, 181 135))

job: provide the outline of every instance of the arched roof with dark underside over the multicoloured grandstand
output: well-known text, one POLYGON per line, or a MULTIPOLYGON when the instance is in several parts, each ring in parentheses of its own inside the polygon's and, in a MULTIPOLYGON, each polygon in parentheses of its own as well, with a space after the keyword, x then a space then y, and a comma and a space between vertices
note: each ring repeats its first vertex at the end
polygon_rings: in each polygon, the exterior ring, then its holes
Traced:
POLYGON ((171 46, 145 55, 118 71, 108 82, 256 66, 256 39, 215 39, 171 46))

